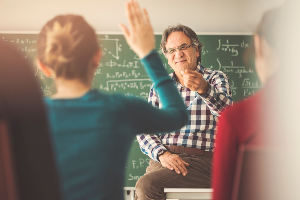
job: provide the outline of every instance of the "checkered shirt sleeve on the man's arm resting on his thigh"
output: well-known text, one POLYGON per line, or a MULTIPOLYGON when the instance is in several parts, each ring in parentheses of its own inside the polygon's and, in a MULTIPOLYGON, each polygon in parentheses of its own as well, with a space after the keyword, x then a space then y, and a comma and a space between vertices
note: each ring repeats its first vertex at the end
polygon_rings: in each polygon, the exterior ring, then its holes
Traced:
MULTIPOLYGON (((150 88, 148 102, 154 107, 161 107, 159 104, 158 95, 153 89, 153 85, 150 88)), ((161 140, 158 138, 158 136, 153 134, 139 134, 137 135, 137 141, 139 142, 142 152, 156 162, 159 162, 157 159, 158 152, 161 150, 167 150, 161 143, 161 140)))

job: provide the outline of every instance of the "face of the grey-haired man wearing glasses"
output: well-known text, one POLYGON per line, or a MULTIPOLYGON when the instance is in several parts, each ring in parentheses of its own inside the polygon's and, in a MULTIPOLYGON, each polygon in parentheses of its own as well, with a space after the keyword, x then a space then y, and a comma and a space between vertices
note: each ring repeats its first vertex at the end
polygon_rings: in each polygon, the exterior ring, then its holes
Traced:
MULTIPOLYGON (((191 45, 191 40, 187 35, 184 35, 182 31, 172 32, 167 38, 166 49, 178 48, 182 45, 191 45)), ((189 49, 179 51, 176 49, 171 55, 167 54, 168 64, 172 67, 176 74, 180 74, 180 71, 196 70, 197 57, 199 56, 198 47, 193 49, 191 46, 189 49)))

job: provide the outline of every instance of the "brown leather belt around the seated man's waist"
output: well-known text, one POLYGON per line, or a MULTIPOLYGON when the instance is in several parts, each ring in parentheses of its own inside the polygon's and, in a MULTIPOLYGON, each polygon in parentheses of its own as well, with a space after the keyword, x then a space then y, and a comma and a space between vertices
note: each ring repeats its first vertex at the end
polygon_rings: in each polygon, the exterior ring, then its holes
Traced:
POLYGON ((167 150, 170 151, 171 153, 175 153, 175 154, 186 153, 190 155, 201 155, 206 158, 212 158, 213 155, 212 151, 203 151, 201 149, 191 148, 191 147, 175 146, 175 145, 172 146, 168 145, 164 147, 167 148, 167 150))

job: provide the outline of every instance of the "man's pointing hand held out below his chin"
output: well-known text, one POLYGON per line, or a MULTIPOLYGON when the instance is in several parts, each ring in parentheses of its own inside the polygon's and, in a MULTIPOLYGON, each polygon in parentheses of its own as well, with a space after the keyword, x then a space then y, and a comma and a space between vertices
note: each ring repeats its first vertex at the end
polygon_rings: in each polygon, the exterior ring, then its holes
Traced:
POLYGON ((180 72, 183 76, 183 84, 192 91, 205 95, 208 92, 208 82, 204 80, 201 73, 192 70, 180 72))

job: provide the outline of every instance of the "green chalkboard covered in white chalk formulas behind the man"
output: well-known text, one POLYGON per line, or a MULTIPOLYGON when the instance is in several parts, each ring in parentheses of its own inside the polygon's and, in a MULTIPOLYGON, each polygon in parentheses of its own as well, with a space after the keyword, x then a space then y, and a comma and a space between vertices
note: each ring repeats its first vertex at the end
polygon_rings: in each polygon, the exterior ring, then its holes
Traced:
MULTIPOLYGON (((255 73, 253 44, 251 35, 198 35, 204 43, 201 52, 202 65, 212 70, 225 72, 230 81, 234 101, 250 98, 262 84, 255 73), (244 61, 244 58, 248 58, 244 61)), ((123 35, 98 34, 98 41, 103 49, 102 59, 95 72, 93 88, 106 93, 123 93, 148 99, 152 85, 137 55, 129 48, 123 35)), ((37 52, 37 34, 1 34, 1 43, 11 43, 16 51, 24 53, 24 59, 32 63, 37 79, 41 82, 44 96, 55 93, 54 82, 46 78, 35 65, 37 52)), ((163 59, 164 66, 171 73, 166 58, 159 49, 161 35, 155 35, 155 48, 163 59)), ((17 72, 16 72, 17 73, 17 72)), ((133 138, 125 173, 125 186, 134 187, 137 179, 149 166, 149 157, 140 151, 136 138, 133 138)))

